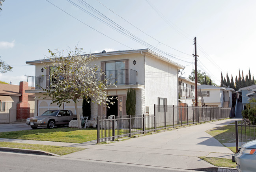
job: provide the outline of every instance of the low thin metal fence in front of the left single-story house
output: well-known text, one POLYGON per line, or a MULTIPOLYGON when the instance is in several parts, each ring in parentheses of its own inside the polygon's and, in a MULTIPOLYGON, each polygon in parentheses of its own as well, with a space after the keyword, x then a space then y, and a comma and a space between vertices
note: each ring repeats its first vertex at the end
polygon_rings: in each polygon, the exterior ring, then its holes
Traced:
MULTIPOLYGON (((28 110, 29 117, 34 117, 35 110, 28 110)), ((24 119, 26 120, 26 119, 24 119)), ((0 123, 11 123, 17 121, 17 109, 0 111, 0 123)))

